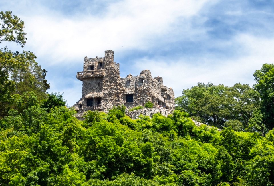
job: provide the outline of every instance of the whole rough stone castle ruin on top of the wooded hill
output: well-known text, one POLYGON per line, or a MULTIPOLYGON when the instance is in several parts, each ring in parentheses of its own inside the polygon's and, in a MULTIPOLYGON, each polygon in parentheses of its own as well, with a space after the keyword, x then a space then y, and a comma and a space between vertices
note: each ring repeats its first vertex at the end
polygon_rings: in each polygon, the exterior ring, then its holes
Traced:
POLYGON ((120 78, 119 63, 114 62, 112 50, 105 51, 101 58, 85 57, 83 71, 77 72, 76 77, 83 82, 82 98, 74 105, 78 113, 107 111, 118 105, 144 106, 148 101, 158 110, 174 109, 174 92, 163 85, 162 77, 152 78, 149 70, 143 70, 138 76, 120 78))

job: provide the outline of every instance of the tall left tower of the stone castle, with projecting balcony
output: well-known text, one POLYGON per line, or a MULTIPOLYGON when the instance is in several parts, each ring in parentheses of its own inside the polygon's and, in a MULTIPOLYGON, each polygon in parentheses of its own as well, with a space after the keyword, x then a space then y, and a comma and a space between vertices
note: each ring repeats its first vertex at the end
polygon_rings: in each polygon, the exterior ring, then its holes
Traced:
POLYGON ((77 79, 82 81, 82 98, 78 101, 78 109, 104 110, 112 108, 113 102, 119 102, 118 87, 120 81, 119 64, 114 61, 114 52, 105 51, 104 58, 84 58, 82 72, 77 72, 77 79))

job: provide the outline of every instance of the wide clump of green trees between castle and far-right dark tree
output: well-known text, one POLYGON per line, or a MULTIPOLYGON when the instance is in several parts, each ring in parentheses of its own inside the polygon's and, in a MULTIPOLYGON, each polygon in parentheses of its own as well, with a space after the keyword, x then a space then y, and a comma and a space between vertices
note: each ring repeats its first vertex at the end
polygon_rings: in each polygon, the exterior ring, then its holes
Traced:
POLYGON ((175 99, 177 110, 184 110, 195 120, 219 128, 238 122, 239 126, 234 128, 245 130, 253 111, 259 105, 257 93, 248 85, 240 83, 232 87, 210 82, 198 83, 197 86, 183 90, 182 94, 175 99))

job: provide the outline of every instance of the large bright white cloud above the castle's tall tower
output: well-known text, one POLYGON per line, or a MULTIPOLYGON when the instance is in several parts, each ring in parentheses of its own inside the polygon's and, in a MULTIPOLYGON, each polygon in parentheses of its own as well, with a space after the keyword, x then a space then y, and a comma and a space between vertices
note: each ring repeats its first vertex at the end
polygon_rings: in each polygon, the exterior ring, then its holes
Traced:
MULTIPOLYGON (((82 13, 69 19, 38 4, 40 12, 24 15, 27 44, 37 55, 49 58, 50 63, 98 56, 109 49, 148 50, 157 43, 154 39, 176 26, 178 19, 196 15, 205 3, 208 0, 125 0, 110 4, 99 16, 82 13)), ((185 27, 192 32, 189 25, 185 27)))

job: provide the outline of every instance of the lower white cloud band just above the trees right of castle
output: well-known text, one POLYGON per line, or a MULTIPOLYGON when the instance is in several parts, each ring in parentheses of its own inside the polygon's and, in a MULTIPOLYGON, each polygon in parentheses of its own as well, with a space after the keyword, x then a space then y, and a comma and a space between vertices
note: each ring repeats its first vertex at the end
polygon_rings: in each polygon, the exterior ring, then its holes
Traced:
POLYGON ((195 86, 198 82, 225 86, 240 82, 252 86, 255 83, 255 70, 260 69, 264 63, 274 63, 274 37, 237 35, 231 42, 240 46, 239 50, 243 55, 224 61, 207 58, 203 62, 190 62, 184 56, 176 61, 143 58, 138 63, 135 62, 135 67, 141 71, 145 66, 150 69, 152 76, 162 76, 164 84, 173 88, 176 97, 181 96, 183 89, 195 86))

